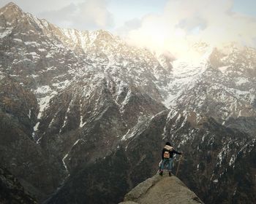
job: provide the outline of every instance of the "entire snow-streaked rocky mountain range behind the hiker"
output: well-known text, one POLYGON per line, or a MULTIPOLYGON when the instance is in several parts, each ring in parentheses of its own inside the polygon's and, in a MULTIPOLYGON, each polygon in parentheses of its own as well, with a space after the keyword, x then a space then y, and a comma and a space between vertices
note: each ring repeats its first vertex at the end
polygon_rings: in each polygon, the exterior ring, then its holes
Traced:
POLYGON ((117 203, 171 141, 184 152, 179 177, 205 203, 256 202, 256 50, 189 52, 196 60, 154 55, 7 4, 0 165, 45 203, 117 203))

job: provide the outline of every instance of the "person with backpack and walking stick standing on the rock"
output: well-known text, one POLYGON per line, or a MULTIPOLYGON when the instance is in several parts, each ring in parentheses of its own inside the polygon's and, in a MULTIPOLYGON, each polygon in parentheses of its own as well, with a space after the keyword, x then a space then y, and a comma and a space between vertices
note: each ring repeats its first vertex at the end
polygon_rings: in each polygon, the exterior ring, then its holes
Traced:
POLYGON ((169 171, 169 176, 171 176, 172 165, 173 165, 173 154, 182 154, 173 149, 173 146, 170 145, 170 142, 167 141, 164 148, 162 149, 162 164, 160 167, 159 175, 162 176, 164 173, 165 165, 167 164, 167 170, 169 171))

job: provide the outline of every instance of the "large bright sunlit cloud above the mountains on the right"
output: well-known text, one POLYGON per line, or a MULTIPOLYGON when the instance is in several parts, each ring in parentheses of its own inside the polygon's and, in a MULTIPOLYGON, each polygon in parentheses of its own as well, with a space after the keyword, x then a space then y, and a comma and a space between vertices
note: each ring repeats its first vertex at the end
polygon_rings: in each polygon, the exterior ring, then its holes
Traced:
POLYGON ((256 47, 256 18, 233 12, 233 0, 168 0, 161 15, 147 15, 130 29, 129 42, 153 50, 186 52, 189 44, 238 42, 256 47))

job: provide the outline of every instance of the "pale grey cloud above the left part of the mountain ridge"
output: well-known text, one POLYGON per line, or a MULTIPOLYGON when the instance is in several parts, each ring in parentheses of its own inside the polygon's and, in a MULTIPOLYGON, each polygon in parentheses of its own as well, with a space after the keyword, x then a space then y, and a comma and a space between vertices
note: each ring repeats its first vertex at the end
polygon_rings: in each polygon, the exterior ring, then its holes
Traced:
POLYGON ((69 4, 61 9, 42 12, 51 23, 61 27, 80 30, 107 29, 114 25, 113 15, 108 11, 107 0, 86 0, 78 4, 69 4))

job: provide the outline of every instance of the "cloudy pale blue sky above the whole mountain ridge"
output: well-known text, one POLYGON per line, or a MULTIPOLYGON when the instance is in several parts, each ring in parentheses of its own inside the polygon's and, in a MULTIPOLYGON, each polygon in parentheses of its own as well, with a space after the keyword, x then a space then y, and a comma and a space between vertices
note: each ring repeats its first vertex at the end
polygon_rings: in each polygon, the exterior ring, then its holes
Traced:
MULTIPOLYGON (((0 7, 10 1, 0 0, 0 7)), ((142 47, 185 52, 189 44, 256 47, 255 0, 12 0, 62 28, 105 29, 142 47)))

